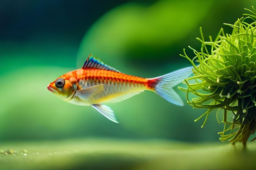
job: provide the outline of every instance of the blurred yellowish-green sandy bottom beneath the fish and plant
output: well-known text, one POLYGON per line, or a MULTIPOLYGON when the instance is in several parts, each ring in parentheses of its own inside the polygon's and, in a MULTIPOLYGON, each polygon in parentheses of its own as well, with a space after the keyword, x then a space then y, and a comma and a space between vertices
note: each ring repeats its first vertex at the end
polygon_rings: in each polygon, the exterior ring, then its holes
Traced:
POLYGON ((76 139, 0 144, 0 169, 254 169, 256 142, 186 144, 171 141, 76 139))

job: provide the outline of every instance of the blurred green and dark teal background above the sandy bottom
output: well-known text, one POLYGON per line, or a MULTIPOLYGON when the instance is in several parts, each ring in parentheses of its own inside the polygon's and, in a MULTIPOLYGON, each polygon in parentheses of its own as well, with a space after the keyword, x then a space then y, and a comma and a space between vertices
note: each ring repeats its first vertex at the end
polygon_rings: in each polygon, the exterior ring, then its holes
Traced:
MULTIPOLYGON (((215 37, 223 22, 234 23, 254 0, 1 0, 0 141, 77 138, 218 141, 215 113, 166 102, 144 92, 108 104, 115 124, 92 107, 63 102, 49 82, 81 68, 92 53, 123 73, 156 77, 190 66, 179 54, 200 49, 199 27, 215 37)), ((184 86, 184 84, 180 84, 184 86)), ((185 93, 175 87, 185 102, 185 93)), ((221 112, 219 114, 222 117, 221 112)))

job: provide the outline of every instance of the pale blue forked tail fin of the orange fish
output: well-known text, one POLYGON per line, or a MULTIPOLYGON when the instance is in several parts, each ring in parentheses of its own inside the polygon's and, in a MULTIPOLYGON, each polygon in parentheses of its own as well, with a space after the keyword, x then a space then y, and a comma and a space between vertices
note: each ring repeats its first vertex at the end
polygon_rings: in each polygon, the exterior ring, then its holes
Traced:
POLYGON ((192 74, 193 66, 181 68, 171 73, 148 79, 157 95, 163 97, 168 102, 178 106, 184 106, 180 96, 173 90, 173 87, 181 83, 192 74))

